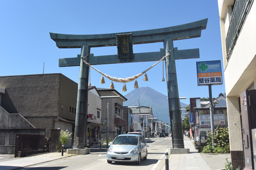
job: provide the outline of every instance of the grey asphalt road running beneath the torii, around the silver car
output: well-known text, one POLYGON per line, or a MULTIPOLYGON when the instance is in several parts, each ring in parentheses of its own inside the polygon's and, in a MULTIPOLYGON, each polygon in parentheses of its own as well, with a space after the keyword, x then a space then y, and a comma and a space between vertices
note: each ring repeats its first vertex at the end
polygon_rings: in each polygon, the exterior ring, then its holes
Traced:
POLYGON ((76 155, 64 159, 36 164, 17 170, 161 170, 165 163, 164 153, 168 147, 172 147, 171 137, 157 137, 146 140, 148 146, 148 159, 142 160, 140 165, 135 163, 116 163, 108 164, 106 161, 106 151, 93 152, 89 155, 76 155))

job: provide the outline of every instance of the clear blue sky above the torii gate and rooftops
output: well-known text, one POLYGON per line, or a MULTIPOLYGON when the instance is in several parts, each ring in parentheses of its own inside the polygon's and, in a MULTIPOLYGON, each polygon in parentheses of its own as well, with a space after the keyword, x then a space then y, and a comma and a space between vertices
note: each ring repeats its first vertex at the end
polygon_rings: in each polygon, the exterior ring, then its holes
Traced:
MULTIPOLYGON (((59 49, 49 32, 59 34, 107 34, 177 26, 208 18, 201 37, 174 41, 179 50, 199 48, 199 59, 176 60, 179 96, 189 104, 191 97, 208 97, 208 86, 198 86, 196 62, 221 60, 221 35, 216 0, 1 0, 0 1, 0 76, 61 73, 78 82, 79 67, 58 67, 59 58, 76 57, 81 49, 59 49)), ((134 53, 160 51, 163 43, 134 45, 134 53)), ((114 47, 91 48, 96 55, 116 54, 114 47)), ((96 65, 113 77, 132 77, 155 62, 96 65)), ((148 71, 148 82, 138 78, 139 87, 150 87, 167 96, 162 82, 162 62, 148 71)), ((166 73, 164 73, 166 79, 166 73)), ((90 82, 109 88, 111 81, 100 84, 101 74, 91 69, 90 82)), ((224 79, 224 75, 223 75, 224 79)), ((134 90, 134 82, 114 82, 122 95, 134 90)), ((212 96, 225 92, 225 86, 212 86, 212 96)))

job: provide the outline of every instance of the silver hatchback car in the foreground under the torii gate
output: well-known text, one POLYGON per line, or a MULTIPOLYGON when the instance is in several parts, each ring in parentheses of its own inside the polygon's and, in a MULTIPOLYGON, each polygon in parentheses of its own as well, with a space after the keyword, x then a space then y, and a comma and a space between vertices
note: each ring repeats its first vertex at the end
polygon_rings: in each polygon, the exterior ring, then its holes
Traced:
POLYGON ((110 142, 107 152, 107 161, 136 162, 140 164, 141 159, 147 159, 148 149, 145 139, 137 134, 119 135, 110 142))

